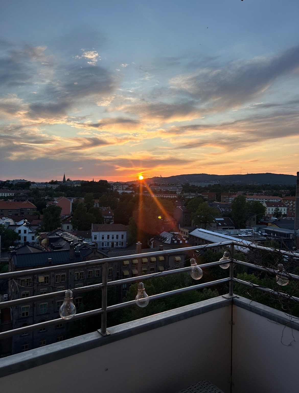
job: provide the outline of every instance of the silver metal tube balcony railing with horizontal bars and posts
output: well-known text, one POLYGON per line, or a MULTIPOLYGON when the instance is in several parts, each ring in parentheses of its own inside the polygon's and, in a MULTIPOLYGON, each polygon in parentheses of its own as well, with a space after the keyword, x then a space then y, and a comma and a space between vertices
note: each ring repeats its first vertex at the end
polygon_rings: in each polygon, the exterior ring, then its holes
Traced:
MULTIPOLYGON (((228 277, 223 278, 223 279, 219 279, 216 281, 209 281, 207 283, 188 286, 185 288, 180 288, 180 289, 172 290, 169 292, 163 292, 160 294, 152 295, 152 296, 149 296, 149 300, 153 301, 156 299, 162 299, 162 298, 166 298, 168 296, 180 294, 183 292, 207 288, 210 286, 220 285, 220 284, 228 282, 229 283, 229 294, 227 295, 228 297, 233 296, 234 283, 239 283, 241 285, 250 286, 252 288, 256 288, 258 290, 261 290, 263 292, 269 292, 269 293, 274 294, 278 297, 287 298, 287 299, 290 299, 291 301, 295 301, 295 302, 299 303, 299 298, 297 298, 295 296, 290 296, 284 292, 275 291, 270 288, 265 288, 265 287, 261 287, 258 285, 254 285, 248 281, 237 279, 236 277, 234 277, 234 265, 246 266, 248 268, 260 270, 263 272, 268 272, 270 274, 279 274, 281 277, 286 277, 288 279, 294 279, 294 280, 298 280, 298 281, 299 281, 299 275, 290 274, 287 272, 281 272, 281 270, 276 270, 273 268, 265 268, 263 266, 259 266, 256 264, 251 264, 251 263, 246 263, 243 261, 236 260, 236 259, 234 259, 234 250, 235 250, 235 248, 237 248, 237 249, 240 249, 240 248, 247 248, 248 249, 249 248, 252 250, 264 250, 264 251, 268 251, 268 252, 279 253, 283 256, 290 256, 290 257, 294 257, 294 258, 299 258, 299 253, 286 251, 286 250, 280 250, 280 249, 274 249, 274 248, 269 248, 269 247, 257 246, 256 244, 248 244, 248 242, 243 243, 241 241, 239 241, 239 242, 227 241, 227 242, 205 244, 202 246, 179 248, 179 249, 174 249, 174 250, 166 250, 166 251, 163 250, 163 251, 159 251, 156 253, 140 253, 140 254, 126 255, 125 258, 126 259, 138 259, 138 258, 152 257, 153 255, 159 256, 159 255, 165 255, 165 254, 168 254, 168 255, 175 254, 178 252, 183 252, 183 253, 186 253, 189 251, 200 252, 201 250, 208 250, 209 248, 215 248, 215 247, 219 247, 219 248, 228 248, 229 247, 230 259, 225 260, 225 261, 217 261, 217 262, 212 262, 212 263, 201 264, 199 266, 201 268, 207 268, 210 266, 217 266, 217 265, 229 263, 230 267, 229 267, 229 276, 228 277)), ((71 268, 83 268, 83 267, 92 267, 92 266, 103 265, 102 283, 72 289, 72 292, 74 294, 77 294, 77 293, 89 292, 89 291, 101 288, 101 290, 102 290, 101 308, 96 309, 96 310, 82 312, 80 314, 76 314, 75 316, 72 317, 72 321, 80 320, 82 318, 87 318, 90 316, 95 316, 95 315, 101 314, 101 328, 98 331, 102 335, 105 336, 105 335, 109 334, 107 332, 107 312, 111 312, 111 311, 123 309, 125 307, 130 307, 130 306, 136 305, 136 301, 134 300, 134 301, 127 301, 127 302, 123 302, 123 303, 119 303, 119 304, 107 307, 107 289, 109 286, 116 286, 116 285, 122 285, 122 284, 128 284, 128 283, 138 283, 138 282, 141 282, 146 279, 153 278, 153 277, 165 277, 167 275, 189 272, 190 270, 192 270, 192 266, 189 266, 189 267, 184 267, 184 268, 165 270, 163 272, 146 274, 146 275, 141 275, 141 276, 137 276, 137 277, 130 277, 130 278, 125 278, 125 279, 121 279, 121 280, 108 282, 108 264, 113 263, 113 262, 123 261, 123 259, 124 259, 123 256, 122 257, 112 257, 112 258, 105 258, 105 259, 96 259, 96 260, 86 261, 86 262, 78 262, 78 263, 63 264, 63 265, 53 265, 53 266, 49 266, 49 267, 45 267, 45 268, 22 270, 22 271, 18 271, 18 272, 2 273, 2 274, 0 274, 0 280, 1 279, 17 279, 19 277, 24 277, 26 275, 43 274, 46 272, 55 272, 58 270, 68 270, 71 268)), ((15 300, 4 301, 4 302, 0 303, 0 309, 27 304, 28 299, 31 299, 31 301, 37 301, 37 300, 43 301, 46 299, 54 299, 54 298, 58 298, 58 297, 61 298, 65 294, 65 292, 66 292, 66 290, 61 290, 59 292, 51 292, 48 294, 42 294, 42 295, 37 295, 37 296, 30 296, 27 298, 20 298, 20 299, 15 299, 15 300)), ((11 336, 14 336, 17 334, 24 334, 29 331, 43 329, 43 328, 46 328, 49 326, 57 325, 59 323, 66 323, 66 322, 68 322, 68 321, 64 320, 63 318, 57 318, 57 319, 54 319, 51 321, 35 323, 33 325, 20 327, 17 329, 12 329, 12 330, 6 331, 6 332, 1 332, 0 339, 11 337, 11 336)))

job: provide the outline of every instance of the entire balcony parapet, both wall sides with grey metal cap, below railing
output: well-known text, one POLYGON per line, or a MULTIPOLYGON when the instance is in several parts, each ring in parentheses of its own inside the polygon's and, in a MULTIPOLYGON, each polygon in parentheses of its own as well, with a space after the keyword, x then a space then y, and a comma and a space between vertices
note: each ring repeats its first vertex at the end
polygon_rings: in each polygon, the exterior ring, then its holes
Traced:
POLYGON ((299 391, 297 318, 242 297, 108 330, 2 358, 1 391, 176 393, 202 379, 225 393, 299 391))

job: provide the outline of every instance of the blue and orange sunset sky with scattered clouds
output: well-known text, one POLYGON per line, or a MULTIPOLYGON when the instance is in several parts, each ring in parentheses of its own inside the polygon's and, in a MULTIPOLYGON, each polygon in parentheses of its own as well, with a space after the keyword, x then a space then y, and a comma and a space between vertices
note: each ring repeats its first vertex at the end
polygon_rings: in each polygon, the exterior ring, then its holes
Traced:
POLYGON ((0 2, 0 179, 299 170, 299 1, 0 2))

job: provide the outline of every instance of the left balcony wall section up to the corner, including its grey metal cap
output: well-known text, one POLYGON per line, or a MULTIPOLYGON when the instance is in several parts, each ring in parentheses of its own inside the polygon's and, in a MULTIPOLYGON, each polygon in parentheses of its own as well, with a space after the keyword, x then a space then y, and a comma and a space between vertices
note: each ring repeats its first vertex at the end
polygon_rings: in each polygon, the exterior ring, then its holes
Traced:
POLYGON ((1 390, 175 393, 205 378, 228 393, 231 308, 219 297, 9 356, 1 390))

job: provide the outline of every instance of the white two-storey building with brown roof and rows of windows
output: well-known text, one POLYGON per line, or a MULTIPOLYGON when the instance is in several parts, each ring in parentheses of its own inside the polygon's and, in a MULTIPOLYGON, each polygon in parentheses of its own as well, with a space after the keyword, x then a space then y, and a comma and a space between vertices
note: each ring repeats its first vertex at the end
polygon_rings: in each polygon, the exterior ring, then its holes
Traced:
POLYGON ((123 248, 127 246, 127 232, 123 224, 92 224, 91 241, 98 248, 123 248))

